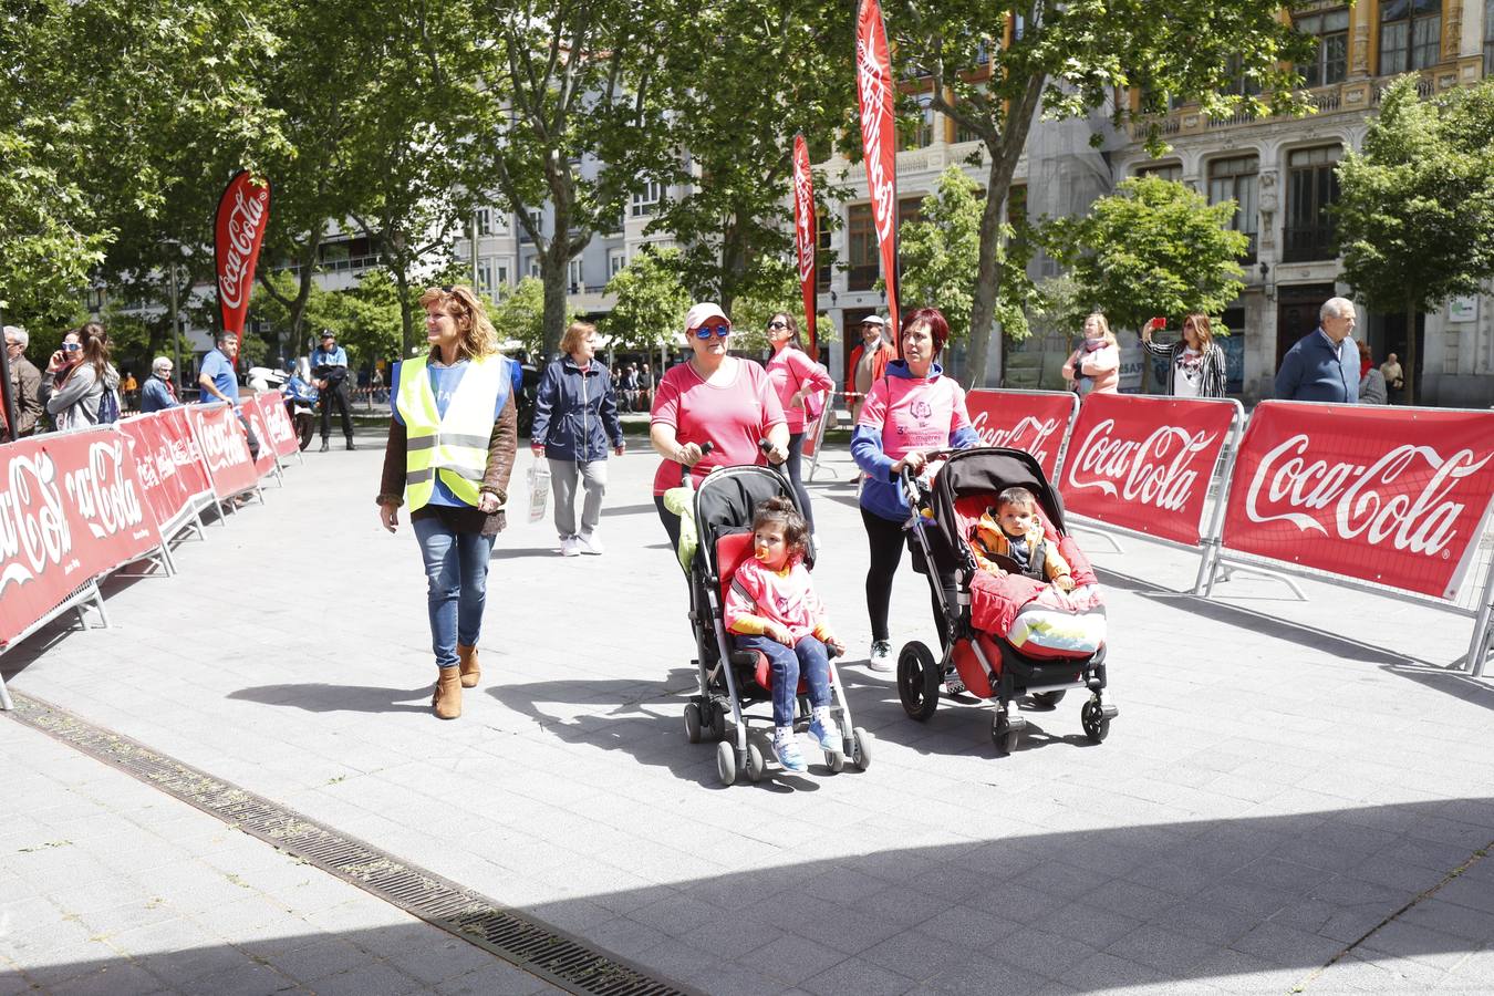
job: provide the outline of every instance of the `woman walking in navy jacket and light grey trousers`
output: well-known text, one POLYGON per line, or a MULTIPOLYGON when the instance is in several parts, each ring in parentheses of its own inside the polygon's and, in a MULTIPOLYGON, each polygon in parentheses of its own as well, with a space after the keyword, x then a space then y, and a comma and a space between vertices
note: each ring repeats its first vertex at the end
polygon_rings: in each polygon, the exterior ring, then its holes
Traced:
POLYGON ((560 339, 559 360, 545 367, 535 397, 530 448, 550 461, 556 496, 556 532, 560 553, 601 554, 602 497, 607 494, 607 449, 623 455, 623 424, 617 418, 613 378, 596 361, 596 326, 572 323, 560 339), (575 485, 586 491, 581 529, 575 527, 575 485))

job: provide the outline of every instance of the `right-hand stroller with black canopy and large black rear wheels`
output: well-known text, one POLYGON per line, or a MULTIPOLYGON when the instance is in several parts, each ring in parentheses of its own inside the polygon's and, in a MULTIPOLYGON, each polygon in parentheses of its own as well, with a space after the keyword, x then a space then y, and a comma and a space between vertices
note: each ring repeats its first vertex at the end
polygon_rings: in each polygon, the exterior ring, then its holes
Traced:
POLYGON ((1085 735, 1094 744, 1101 742, 1118 714, 1106 690, 1104 609, 1089 560, 1064 529, 1058 493, 1038 461, 1020 449, 931 454, 931 464, 946 455, 932 484, 907 472, 902 475, 913 509, 913 542, 926 563, 953 572, 958 579, 956 603, 949 605, 937 575, 929 572, 950 644, 938 660, 917 641, 902 647, 898 697, 904 711, 914 720, 928 720, 938 706, 941 690, 992 699, 996 712, 991 739, 998 753, 1007 754, 1016 748, 1026 726, 1017 699, 1031 694, 1037 703, 1052 708, 1068 690, 1077 688, 1089 691, 1080 712, 1085 735), (1023 487, 1037 499, 1044 542, 1056 544, 1070 564, 1076 582, 1073 593, 1020 576, 1014 561, 1002 564, 1011 573, 1001 578, 979 569, 967 541, 986 508, 1010 487, 1023 487), (973 587, 979 588, 974 614, 973 587))

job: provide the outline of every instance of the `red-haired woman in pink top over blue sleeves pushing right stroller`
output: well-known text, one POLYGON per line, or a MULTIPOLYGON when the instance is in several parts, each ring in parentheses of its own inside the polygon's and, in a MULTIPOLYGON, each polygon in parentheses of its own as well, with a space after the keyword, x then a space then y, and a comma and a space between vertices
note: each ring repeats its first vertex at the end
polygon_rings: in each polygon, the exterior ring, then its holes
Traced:
MULTIPOLYGON (((871 617, 872 670, 893 670, 892 642, 887 633, 887 609, 892 603, 892 576, 902 560, 907 541, 913 567, 935 570, 923 563, 922 551, 907 535, 911 517, 907 496, 898 482, 904 469, 913 475, 923 470, 926 454, 935 449, 968 449, 980 445, 980 436, 970 424, 965 390, 935 360, 949 340, 949 323, 935 308, 920 308, 902 321, 902 360, 887 364, 887 375, 871 385, 861 421, 852 430, 850 452, 867 475, 861 488, 861 521, 867 529, 871 567, 867 570, 867 615, 871 617)), ((944 600, 955 605, 953 572, 938 573, 944 600)), ((934 624, 947 645, 949 632, 938 599, 934 624)))

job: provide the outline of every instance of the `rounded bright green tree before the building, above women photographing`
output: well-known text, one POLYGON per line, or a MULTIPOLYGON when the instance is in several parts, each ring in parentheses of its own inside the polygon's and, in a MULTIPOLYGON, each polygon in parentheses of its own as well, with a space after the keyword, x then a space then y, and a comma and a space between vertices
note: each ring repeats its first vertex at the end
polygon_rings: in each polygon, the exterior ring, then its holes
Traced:
MULTIPOLYGON (((1143 176, 1122 181, 1083 218, 1049 222, 1041 237, 1070 267, 1082 311, 1138 329, 1153 315, 1218 315, 1240 296, 1250 239, 1228 227, 1234 212, 1233 200, 1210 205, 1182 184, 1143 176)), ((1077 327, 1083 314, 1070 318, 1077 327)))

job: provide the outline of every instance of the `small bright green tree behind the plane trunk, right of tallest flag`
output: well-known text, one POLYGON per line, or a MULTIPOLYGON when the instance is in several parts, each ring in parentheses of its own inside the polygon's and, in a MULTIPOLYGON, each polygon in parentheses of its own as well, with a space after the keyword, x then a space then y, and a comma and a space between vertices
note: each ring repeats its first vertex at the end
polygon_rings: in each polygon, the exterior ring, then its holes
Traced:
MULTIPOLYGON (((938 178, 935 193, 923 199, 919 220, 905 221, 898 228, 898 252, 902 257, 901 305, 938 308, 949 321, 950 336, 970 336, 970 317, 976 305, 980 269, 980 218, 985 206, 980 188, 958 166, 950 166, 938 178)), ((996 246, 1001 273, 995 318, 1005 336, 1022 340, 1028 336, 1025 305, 1032 296, 1026 275, 1026 252, 1013 252, 1014 231, 1001 225, 996 246)))

